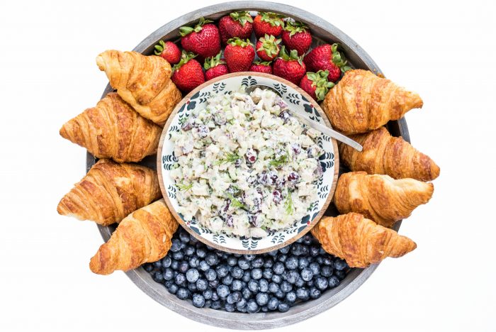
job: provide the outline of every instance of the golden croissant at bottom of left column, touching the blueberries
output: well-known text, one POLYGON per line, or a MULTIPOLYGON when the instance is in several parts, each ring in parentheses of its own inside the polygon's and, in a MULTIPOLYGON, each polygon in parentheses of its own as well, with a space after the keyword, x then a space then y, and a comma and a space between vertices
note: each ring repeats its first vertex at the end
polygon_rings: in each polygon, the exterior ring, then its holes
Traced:
POLYGON ((178 226, 164 199, 142 207, 119 223, 108 242, 91 258, 89 268, 98 275, 110 275, 115 270, 127 271, 155 262, 167 255, 178 226))

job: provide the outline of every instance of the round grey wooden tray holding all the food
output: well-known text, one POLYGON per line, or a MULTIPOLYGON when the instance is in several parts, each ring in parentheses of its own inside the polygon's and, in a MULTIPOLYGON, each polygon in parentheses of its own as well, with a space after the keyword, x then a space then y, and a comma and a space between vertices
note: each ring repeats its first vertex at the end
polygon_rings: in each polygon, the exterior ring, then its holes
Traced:
MULTIPOLYGON (((353 67, 371 70, 376 74, 383 74, 376 65, 376 62, 374 62, 371 57, 356 42, 354 42, 354 40, 349 38, 349 36, 344 34, 331 23, 325 21, 323 18, 293 6, 266 1, 232 1, 192 11, 191 13, 187 13, 186 15, 167 23, 157 29, 157 31, 154 31, 154 33, 145 38, 145 40, 142 40, 142 42, 138 44, 134 50, 137 52, 142 52, 145 55, 151 55, 153 53, 154 45, 157 44, 159 40, 178 40, 179 27, 181 26, 191 25, 192 23, 198 21, 198 19, 202 16, 205 18, 218 20, 220 17, 232 11, 244 10, 254 12, 274 11, 276 13, 281 13, 295 18, 297 21, 302 21, 310 26, 312 35, 315 38, 315 44, 339 43, 342 45, 346 59, 353 67)), ((107 86, 103 92, 103 96, 111 91, 112 88, 107 86)), ((401 136, 404 140, 410 142, 410 135, 408 134, 405 118, 401 118, 398 121, 390 121, 387 128, 391 135, 401 136)), ((95 164, 95 162, 95 157, 87 153, 86 172, 95 164)), ((141 164, 155 168, 156 156, 152 155, 145 158, 141 164)), ((347 170, 343 168, 340 170, 340 172, 346 171, 347 170)), ((325 215, 335 216, 337 215, 337 211, 335 211, 335 209, 331 206, 327 209, 327 211, 325 211, 325 215)), ((400 223, 401 222, 395 224, 394 229, 396 231, 400 228, 400 223)), ((107 241, 112 232, 115 230, 115 226, 98 226, 98 230, 100 231, 103 240, 107 241)), ((126 272, 126 275, 130 277, 137 287, 152 297, 152 299, 159 302, 163 306, 176 311, 178 314, 188 317, 189 319, 223 328, 255 330, 286 326, 303 321, 326 311, 348 297, 358 287, 360 287, 377 267, 378 265, 371 265, 366 269, 351 269, 338 287, 329 289, 327 292, 322 294, 322 297, 319 299, 293 306, 286 313, 269 312, 257 314, 240 314, 214 309, 196 308, 190 301, 184 301, 178 299, 174 294, 169 294, 167 289, 165 289, 162 284, 154 282, 152 277, 145 272, 142 267, 126 272)))

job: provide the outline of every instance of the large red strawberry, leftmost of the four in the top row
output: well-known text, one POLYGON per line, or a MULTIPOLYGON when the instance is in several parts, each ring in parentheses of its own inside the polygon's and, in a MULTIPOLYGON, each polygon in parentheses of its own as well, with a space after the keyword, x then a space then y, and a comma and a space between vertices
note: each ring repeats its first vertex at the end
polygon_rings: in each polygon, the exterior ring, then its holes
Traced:
POLYGON ((220 52, 220 35, 219 29, 213 24, 206 24, 212 21, 200 18, 198 24, 191 28, 190 26, 181 26, 181 46, 188 52, 198 55, 198 60, 204 61, 207 57, 213 57, 220 52))

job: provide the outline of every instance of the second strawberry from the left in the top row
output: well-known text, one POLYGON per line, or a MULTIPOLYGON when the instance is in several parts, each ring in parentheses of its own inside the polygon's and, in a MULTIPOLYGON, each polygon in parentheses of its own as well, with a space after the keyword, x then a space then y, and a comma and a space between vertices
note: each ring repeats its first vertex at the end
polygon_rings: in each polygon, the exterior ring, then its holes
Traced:
POLYGON ((253 31, 253 18, 247 11, 235 11, 219 21, 220 40, 227 44, 231 38, 249 39, 253 31))

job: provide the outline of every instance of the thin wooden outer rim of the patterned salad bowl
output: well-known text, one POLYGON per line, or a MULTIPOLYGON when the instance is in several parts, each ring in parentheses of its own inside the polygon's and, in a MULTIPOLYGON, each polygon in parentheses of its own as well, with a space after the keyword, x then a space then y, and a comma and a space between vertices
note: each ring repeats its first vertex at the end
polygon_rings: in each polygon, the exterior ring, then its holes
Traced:
MULTIPOLYGON (((193 231, 190 227, 186 225, 184 220, 179 216, 177 213, 176 209, 174 209, 174 206, 172 205, 172 202, 169 198, 169 195, 167 194, 167 189, 165 188, 164 185, 164 176, 167 175, 167 172, 163 172, 162 170, 162 150, 164 148, 164 141, 167 138, 167 134, 169 132, 169 128, 171 126, 172 121, 174 121, 174 118, 176 117, 179 109, 184 107, 184 105, 188 102, 189 99, 191 99, 191 96, 194 94, 197 94, 198 92, 201 92, 203 89, 212 86, 213 84, 217 82, 223 82, 225 79, 230 79, 232 77, 264 77, 268 79, 272 79, 274 81, 277 81, 281 84, 284 84, 288 87, 291 87, 295 89, 296 92, 304 96, 310 104, 317 109, 319 112, 320 116, 322 117, 322 120, 324 123, 329 127, 331 127, 331 123, 329 122, 329 118, 327 117, 327 114, 323 109, 320 108, 320 105, 318 104, 317 101, 312 99, 312 97, 305 92, 303 89, 298 87, 296 84, 293 84, 292 82, 289 82, 287 79, 283 79, 281 77, 275 76, 273 74, 266 74, 263 72, 231 72, 230 74, 224 74, 219 77, 215 77, 214 79, 210 79, 207 82, 200 84, 198 87, 195 89, 191 90, 186 96, 184 96, 181 101, 179 101, 178 104, 174 107, 174 110, 169 114, 169 118, 167 118, 167 121, 164 125, 164 129, 162 130, 162 135, 160 135, 160 141, 159 141, 159 147, 157 148, 157 172, 159 175, 159 185, 160 185, 160 191, 162 192, 162 197, 164 197, 165 203, 167 204, 167 207, 169 208, 169 211, 171 211, 171 214, 176 218, 176 221, 179 222, 179 224, 184 228, 188 233, 196 238, 197 240, 201 241, 202 243, 205 243, 205 245, 209 245, 212 248, 218 249, 225 251, 227 253, 237 253, 237 254, 242 254, 242 255, 257 255, 261 253, 269 253, 269 251, 277 250, 279 248, 286 247, 286 245, 290 245, 291 243, 294 243, 296 240, 304 236, 306 233, 308 233, 314 226, 315 224, 320 221, 320 218, 325 214, 325 211, 329 207, 330 202, 332 201, 332 197, 334 196, 334 192, 336 190, 337 186, 337 178, 339 175, 339 150, 337 148, 337 141, 334 138, 332 139, 332 149, 334 153, 334 174, 332 176, 332 184, 331 187, 329 188, 329 194, 327 195, 327 198, 325 199, 324 205, 322 205, 322 209, 318 212, 317 216, 313 218, 313 220, 310 222, 308 226, 306 226, 303 231, 300 233, 295 233, 294 236, 291 238, 288 238, 287 240, 283 241, 283 243, 277 243, 275 245, 271 245, 269 247, 263 248, 263 249, 234 249, 234 248, 227 248, 223 245, 220 245, 220 243, 214 243, 213 241, 208 240, 207 238, 204 238, 203 236, 199 235, 195 231, 193 231), (312 101, 315 101, 313 103, 312 101)), ((323 175, 322 175, 323 176, 323 175)))

